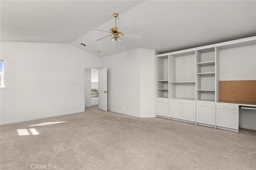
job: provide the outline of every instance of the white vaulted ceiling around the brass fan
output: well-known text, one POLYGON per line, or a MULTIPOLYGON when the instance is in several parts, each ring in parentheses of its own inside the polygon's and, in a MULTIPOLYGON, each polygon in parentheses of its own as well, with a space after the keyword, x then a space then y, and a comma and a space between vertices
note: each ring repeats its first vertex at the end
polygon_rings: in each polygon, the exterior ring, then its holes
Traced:
POLYGON ((1 0, 1 41, 70 43, 98 57, 136 48, 159 53, 256 35, 256 1, 1 0), (92 27, 117 27, 141 39, 115 45, 92 27), (80 45, 86 44, 86 46, 80 45), (100 50, 102 53, 97 53, 100 50))

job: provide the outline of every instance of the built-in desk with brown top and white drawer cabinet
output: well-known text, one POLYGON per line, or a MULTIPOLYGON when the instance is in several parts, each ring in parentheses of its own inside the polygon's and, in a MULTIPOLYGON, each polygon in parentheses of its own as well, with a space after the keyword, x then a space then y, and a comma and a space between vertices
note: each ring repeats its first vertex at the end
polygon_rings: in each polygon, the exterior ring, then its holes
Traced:
POLYGON ((216 128, 238 132, 239 108, 256 110, 256 103, 218 100, 216 102, 216 128))

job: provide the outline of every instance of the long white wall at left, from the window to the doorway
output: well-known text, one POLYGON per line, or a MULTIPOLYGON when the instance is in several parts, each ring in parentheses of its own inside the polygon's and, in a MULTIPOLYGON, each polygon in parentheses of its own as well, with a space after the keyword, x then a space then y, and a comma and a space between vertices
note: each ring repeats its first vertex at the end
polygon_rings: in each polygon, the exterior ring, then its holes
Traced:
POLYGON ((1 59, 1 124, 84 111, 84 67, 100 68, 69 44, 1 42, 1 59))

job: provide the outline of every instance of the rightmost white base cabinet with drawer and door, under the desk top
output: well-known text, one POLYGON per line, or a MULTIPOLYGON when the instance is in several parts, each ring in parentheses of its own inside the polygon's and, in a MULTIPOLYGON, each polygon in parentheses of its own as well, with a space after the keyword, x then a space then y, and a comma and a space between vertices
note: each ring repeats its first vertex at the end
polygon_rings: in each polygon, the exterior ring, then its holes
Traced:
POLYGON ((216 126, 238 130, 238 105, 216 104, 216 126))

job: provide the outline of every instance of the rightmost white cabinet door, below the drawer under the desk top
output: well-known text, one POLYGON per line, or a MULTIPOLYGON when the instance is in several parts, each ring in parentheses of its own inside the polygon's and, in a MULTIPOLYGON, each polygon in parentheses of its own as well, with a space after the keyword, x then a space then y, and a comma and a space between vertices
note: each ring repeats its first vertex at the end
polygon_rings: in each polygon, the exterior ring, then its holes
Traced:
POLYGON ((216 126, 238 130, 238 111, 216 109, 216 126))

